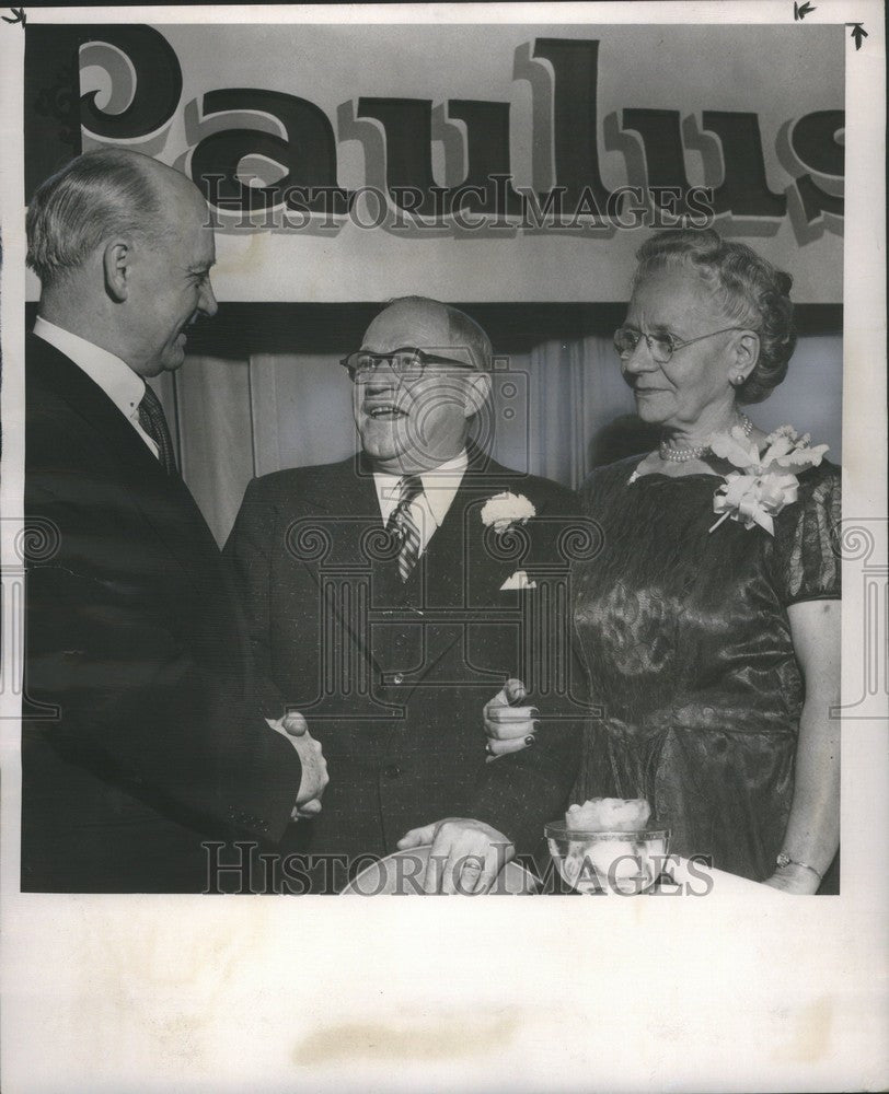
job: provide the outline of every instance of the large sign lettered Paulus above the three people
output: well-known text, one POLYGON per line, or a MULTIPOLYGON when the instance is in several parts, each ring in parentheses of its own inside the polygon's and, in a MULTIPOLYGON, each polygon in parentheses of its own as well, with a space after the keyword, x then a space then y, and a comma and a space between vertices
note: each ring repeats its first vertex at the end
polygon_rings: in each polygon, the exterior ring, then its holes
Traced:
MULTIPOLYGON (((332 238, 353 238, 365 261, 414 241, 424 246, 408 266, 422 254, 428 269, 434 255, 446 280, 461 242, 487 240, 511 243, 523 263, 536 256, 544 286, 533 291, 526 271, 521 295, 582 299, 554 284, 589 276, 579 244, 624 276, 640 230, 715 224, 785 256, 817 252, 820 274, 804 292, 840 299, 839 30, 834 44, 833 28, 820 28, 833 72, 826 81, 818 65, 811 86, 795 77, 803 39, 786 30, 771 28, 777 39, 763 36, 770 28, 555 30, 42 27, 55 37, 30 42, 32 129, 43 139, 54 110, 62 118, 66 69, 47 58, 67 55, 77 72, 68 154, 79 151, 73 135, 83 148, 120 143, 173 163, 204 190, 222 235, 324 240, 333 278, 345 253, 331 253, 332 238), (373 243, 358 241, 367 230, 373 243)), ((32 166, 46 154, 44 143, 32 166)), ((276 240, 267 257, 286 261, 286 246, 276 240)), ((601 269, 598 287, 599 299, 622 294, 601 269)), ((328 295, 338 293, 319 292, 328 295)))

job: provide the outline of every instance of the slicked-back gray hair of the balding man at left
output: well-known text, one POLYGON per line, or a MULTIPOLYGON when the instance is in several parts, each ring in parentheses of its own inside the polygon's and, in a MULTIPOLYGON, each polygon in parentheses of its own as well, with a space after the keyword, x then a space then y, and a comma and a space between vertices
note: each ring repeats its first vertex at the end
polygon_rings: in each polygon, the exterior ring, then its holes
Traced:
POLYGON ((96 149, 41 185, 25 225, 27 265, 44 289, 81 266, 112 236, 157 234, 165 218, 151 177, 153 164, 129 149, 96 149))

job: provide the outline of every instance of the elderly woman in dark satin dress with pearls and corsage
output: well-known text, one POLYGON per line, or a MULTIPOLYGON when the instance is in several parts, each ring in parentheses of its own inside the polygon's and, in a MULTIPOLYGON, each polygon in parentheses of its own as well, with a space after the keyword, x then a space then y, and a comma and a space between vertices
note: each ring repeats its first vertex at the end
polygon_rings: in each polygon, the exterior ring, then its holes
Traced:
MULTIPOLYGON (((574 617, 602 717, 574 801, 647 798, 674 852, 815 893, 839 846, 840 472, 741 409, 787 373, 790 278, 714 231, 637 258, 614 345, 661 440, 584 488, 603 546, 574 617)), ((495 755, 523 712, 489 705, 495 755)))

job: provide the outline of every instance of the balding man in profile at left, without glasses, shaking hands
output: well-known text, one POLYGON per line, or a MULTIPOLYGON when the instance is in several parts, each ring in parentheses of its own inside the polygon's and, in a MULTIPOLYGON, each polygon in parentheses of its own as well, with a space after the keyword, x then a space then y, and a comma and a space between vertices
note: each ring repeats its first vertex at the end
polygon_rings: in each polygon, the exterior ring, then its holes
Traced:
POLYGON ((261 717, 146 384, 216 312, 207 221, 183 175, 122 149, 72 161, 28 209, 25 517, 54 549, 27 573, 23 889, 201 892, 203 841, 275 841, 320 807, 320 747, 261 717))

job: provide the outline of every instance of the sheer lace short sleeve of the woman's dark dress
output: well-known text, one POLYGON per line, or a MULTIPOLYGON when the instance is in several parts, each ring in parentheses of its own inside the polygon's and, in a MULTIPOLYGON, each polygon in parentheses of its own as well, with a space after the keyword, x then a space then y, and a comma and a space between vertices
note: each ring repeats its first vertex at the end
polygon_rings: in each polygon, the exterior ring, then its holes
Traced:
POLYGON ((800 478, 797 501, 775 522, 775 582, 785 605, 840 598, 841 515, 840 468, 824 462, 800 478))

